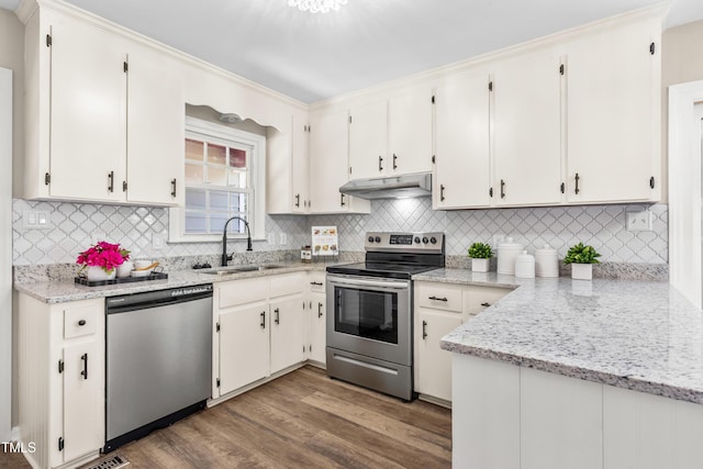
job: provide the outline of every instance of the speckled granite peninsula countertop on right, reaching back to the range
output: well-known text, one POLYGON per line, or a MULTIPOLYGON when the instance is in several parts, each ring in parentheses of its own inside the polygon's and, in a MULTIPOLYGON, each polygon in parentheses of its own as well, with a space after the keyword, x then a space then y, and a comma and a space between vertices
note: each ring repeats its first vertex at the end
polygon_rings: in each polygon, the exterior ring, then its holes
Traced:
POLYGON ((461 269, 413 279, 514 288, 443 337, 446 350, 703 404, 703 312, 668 282, 461 269))

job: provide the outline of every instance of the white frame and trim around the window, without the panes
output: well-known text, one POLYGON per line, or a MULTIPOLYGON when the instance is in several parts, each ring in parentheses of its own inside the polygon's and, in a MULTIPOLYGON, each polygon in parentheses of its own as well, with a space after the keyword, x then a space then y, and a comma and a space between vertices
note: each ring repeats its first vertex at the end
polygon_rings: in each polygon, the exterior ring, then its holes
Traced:
MULTIPOLYGON (((247 170, 250 171, 250 198, 249 198, 249 227, 252 238, 261 241, 266 238, 264 226, 266 217, 266 137, 249 132, 232 129, 201 119, 186 116, 186 129, 183 132, 183 145, 186 138, 196 138, 203 142, 211 141, 216 145, 243 144, 252 147, 252 158, 248 161, 247 170), (228 143, 227 143, 228 142, 228 143)), ((181 163, 186 167, 186 158, 181 163)), ((186 185, 186 187, 189 187, 186 185)), ((169 209, 168 216, 168 242, 169 243, 210 243, 221 242, 222 233, 212 234, 187 234, 186 233, 186 206, 169 209)), ((227 239, 246 239, 246 233, 227 234, 227 239)))

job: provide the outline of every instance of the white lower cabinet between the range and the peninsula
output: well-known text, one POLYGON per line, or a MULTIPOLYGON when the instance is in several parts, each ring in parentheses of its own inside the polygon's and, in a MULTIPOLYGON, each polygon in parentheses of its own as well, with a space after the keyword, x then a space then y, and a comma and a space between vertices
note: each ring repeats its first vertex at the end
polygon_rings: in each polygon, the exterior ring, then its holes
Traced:
POLYGON ((414 388, 420 397, 451 402, 451 353, 442 337, 490 306, 511 290, 496 287, 415 282, 414 388))

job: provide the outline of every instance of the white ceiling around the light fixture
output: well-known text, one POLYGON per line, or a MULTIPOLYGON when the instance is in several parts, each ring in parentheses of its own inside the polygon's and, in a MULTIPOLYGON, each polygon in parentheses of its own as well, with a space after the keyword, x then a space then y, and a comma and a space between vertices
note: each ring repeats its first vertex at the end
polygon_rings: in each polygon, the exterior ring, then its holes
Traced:
MULTIPOLYGON (((303 102, 658 2, 349 0, 312 14, 288 0, 67 1, 303 102)), ((701 19, 703 1, 673 0, 666 26, 701 19)))

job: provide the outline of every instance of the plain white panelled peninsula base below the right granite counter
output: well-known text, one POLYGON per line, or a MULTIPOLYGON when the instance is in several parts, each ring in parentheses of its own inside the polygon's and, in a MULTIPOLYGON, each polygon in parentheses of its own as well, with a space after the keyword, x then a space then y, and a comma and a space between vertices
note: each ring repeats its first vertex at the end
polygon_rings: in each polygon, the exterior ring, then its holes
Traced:
POLYGON ((701 467, 703 405, 454 354, 453 467, 701 467))

